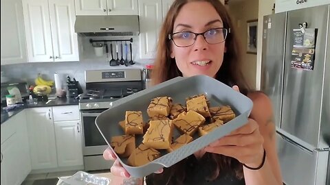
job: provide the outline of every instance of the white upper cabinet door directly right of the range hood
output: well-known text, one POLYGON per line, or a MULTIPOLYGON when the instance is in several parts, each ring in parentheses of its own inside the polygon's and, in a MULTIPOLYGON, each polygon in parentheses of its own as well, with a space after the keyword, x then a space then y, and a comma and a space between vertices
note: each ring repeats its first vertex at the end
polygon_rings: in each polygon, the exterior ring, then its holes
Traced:
POLYGON ((162 0, 140 0, 140 55, 155 58, 156 43, 162 25, 162 0))

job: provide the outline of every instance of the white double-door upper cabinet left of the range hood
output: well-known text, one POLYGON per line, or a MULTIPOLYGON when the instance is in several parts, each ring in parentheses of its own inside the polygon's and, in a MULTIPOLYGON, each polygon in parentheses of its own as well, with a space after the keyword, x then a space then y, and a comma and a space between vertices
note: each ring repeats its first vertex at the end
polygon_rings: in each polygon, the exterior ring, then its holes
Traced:
POLYGON ((28 62, 78 61, 74 0, 23 0, 28 62))

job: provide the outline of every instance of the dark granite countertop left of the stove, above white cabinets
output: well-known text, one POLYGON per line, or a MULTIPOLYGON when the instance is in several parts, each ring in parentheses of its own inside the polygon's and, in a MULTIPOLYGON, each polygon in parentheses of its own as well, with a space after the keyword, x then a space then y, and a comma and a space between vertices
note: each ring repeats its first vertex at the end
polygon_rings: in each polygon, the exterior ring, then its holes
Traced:
POLYGON ((50 101, 39 101, 37 104, 29 104, 24 103, 24 106, 21 108, 15 108, 14 110, 11 110, 9 112, 5 112, 3 109, 1 109, 1 124, 5 123, 10 117, 14 116, 15 114, 18 114, 25 108, 42 108, 42 107, 50 107, 50 106, 71 106, 71 105, 78 105, 79 100, 74 98, 56 98, 52 99, 50 101), (47 103, 48 102, 48 103, 47 103))

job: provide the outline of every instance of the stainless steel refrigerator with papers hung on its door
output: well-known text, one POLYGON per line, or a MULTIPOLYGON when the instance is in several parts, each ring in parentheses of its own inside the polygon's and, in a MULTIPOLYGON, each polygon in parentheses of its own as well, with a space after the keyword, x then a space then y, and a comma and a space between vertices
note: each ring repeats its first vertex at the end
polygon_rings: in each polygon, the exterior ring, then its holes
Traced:
POLYGON ((329 5, 263 17, 261 90, 272 99, 287 185, 330 184, 329 19, 329 5), (304 52, 312 54, 299 54, 310 35, 315 45, 304 52))

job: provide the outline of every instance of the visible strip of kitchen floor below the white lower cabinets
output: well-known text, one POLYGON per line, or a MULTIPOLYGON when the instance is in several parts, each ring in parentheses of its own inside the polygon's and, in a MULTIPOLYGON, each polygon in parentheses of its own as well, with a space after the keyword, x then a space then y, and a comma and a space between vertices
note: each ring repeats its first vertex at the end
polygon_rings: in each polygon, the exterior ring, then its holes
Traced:
MULTIPOLYGON (((29 174, 21 185, 56 185, 58 177, 71 176, 77 171, 61 171, 54 173, 38 173, 29 174)), ((88 171, 87 173, 108 173, 109 170, 104 171, 88 171)))

